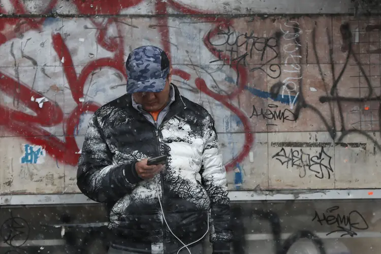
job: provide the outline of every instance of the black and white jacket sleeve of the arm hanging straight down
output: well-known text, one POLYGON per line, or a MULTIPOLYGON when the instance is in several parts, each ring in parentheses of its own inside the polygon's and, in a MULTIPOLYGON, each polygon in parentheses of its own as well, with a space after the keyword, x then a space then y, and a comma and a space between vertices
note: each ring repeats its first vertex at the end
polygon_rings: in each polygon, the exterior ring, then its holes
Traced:
POLYGON ((205 146, 202 157, 202 182, 211 200, 210 242, 213 244, 213 253, 219 252, 217 250, 227 252, 233 236, 230 228, 226 169, 218 145, 214 120, 209 114, 203 125, 205 146))

